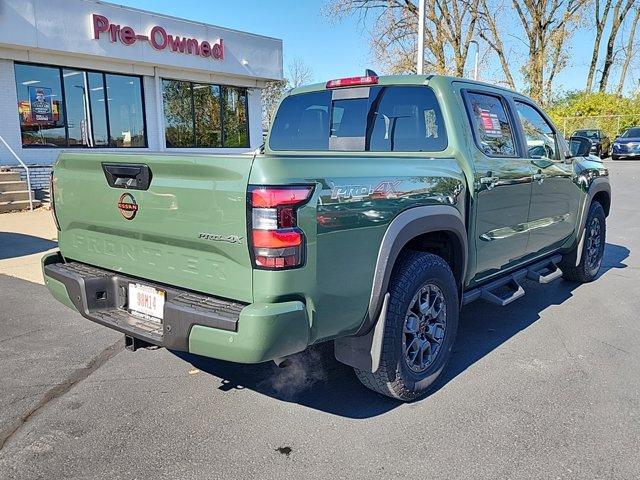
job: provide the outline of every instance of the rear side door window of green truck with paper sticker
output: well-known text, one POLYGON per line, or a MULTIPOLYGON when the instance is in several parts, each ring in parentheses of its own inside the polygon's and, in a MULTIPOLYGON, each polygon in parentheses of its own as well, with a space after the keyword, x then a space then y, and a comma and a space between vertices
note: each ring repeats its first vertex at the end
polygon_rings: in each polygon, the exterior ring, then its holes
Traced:
POLYGON ((467 101, 480 150, 490 157, 515 157, 513 128, 500 97, 470 92, 467 101))

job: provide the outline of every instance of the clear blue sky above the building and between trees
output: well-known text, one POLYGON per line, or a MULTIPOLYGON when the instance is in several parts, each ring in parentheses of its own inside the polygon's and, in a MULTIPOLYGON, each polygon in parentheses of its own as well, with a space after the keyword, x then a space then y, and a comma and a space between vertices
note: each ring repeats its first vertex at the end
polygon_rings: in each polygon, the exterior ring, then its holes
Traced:
MULTIPOLYGON (((281 38, 285 73, 287 63, 299 57, 312 68, 315 81, 359 75, 367 67, 375 68, 370 61, 369 36, 363 27, 355 18, 337 23, 325 18, 321 14, 324 0, 214 0, 206 3, 197 0, 114 0, 113 3, 281 38)), ((592 42, 591 33, 576 34, 569 64, 558 76, 556 90, 584 88, 592 42)), ((469 69, 471 62, 470 58, 469 69)), ((518 75, 517 69, 514 70, 514 75, 518 75)), ((484 73, 486 79, 488 72, 484 73)), ((627 91, 632 87, 632 81, 637 82, 636 77, 640 77, 638 70, 631 72, 627 91)), ((614 71, 610 85, 617 85, 617 81, 618 75, 614 71)))

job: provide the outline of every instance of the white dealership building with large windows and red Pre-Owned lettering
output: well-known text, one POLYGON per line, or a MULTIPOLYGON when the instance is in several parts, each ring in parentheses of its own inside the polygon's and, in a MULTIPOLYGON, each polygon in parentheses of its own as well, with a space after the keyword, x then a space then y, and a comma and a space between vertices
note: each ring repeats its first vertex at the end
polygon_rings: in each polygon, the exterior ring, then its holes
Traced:
MULTIPOLYGON (((279 39, 92 0, 0 0, 0 136, 34 171, 65 150, 253 150, 261 89, 281 78, 279 39)), ((0 165, 15 164, 0 142, 0 165)))

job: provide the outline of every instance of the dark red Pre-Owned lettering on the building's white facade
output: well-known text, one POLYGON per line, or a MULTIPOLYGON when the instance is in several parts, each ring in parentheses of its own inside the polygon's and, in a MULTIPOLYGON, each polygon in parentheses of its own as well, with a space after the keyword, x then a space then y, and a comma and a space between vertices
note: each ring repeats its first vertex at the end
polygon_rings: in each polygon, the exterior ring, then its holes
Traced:
POLYGON ((206 40, 200 41, 196 38, 181 37, 179 35, 168 34, 160 25, 151 28, 148 35, 137 34, 129 26, 120 26, 111 23, 104 15, 93 14, 93 38, 98 40, 100 34, 109 36, 113 43, 121 42, 124 45, 133 45, 136 42, 148 42, 156 50, 169 49, 177 53, 197 55, 214 60, 224 59, 224 43, 218 39, 214 43, 206 40))

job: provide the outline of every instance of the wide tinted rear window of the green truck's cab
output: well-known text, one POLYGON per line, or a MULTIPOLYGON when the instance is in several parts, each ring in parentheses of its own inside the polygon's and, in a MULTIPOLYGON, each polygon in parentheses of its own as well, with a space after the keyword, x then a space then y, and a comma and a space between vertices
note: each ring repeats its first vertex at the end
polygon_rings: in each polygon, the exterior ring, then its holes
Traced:
POLYGON ((431 88, 358 87, 286 97, 273 121, 269 147, 276 151, 437 152, 447 147, 447 132, 431 88))

